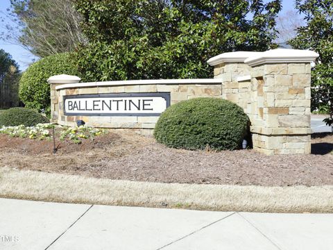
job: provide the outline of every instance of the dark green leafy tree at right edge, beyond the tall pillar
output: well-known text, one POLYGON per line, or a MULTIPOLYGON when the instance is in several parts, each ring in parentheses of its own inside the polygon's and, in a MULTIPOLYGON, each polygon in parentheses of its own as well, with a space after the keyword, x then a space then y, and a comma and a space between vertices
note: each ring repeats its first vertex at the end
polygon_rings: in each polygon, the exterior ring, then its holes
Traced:
POLYGON ((295 49, 311 49, 319 53, 312 69, 311 109, 326 107, 333 124, 333 2, 332 0, 296 0, 296 8, 305 15, 305 26, 289 43, 295 49))

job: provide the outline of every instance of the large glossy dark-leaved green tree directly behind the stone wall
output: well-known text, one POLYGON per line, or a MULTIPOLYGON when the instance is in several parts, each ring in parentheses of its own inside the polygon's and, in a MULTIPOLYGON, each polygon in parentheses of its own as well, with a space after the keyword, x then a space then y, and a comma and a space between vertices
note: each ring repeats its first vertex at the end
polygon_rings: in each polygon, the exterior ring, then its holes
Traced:
POLYGON ((219 53, 274 47, 281 1, 74 0, 89 42, 78 47, 85 81, 212 76, 219 53))

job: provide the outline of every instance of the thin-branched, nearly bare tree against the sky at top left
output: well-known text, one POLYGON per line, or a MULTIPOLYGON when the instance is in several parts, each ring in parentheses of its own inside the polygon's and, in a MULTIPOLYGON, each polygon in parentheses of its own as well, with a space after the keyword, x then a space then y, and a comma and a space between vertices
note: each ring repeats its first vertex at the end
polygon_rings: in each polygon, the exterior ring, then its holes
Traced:
POLYGON ((81 20, 73 8, 73 0, 10 0, 12 21, 19 26, 8 26, 6 40, 13 40, 35 56, 45 57, 74 51, 76 44, 85 43, 80 30, 81 20))

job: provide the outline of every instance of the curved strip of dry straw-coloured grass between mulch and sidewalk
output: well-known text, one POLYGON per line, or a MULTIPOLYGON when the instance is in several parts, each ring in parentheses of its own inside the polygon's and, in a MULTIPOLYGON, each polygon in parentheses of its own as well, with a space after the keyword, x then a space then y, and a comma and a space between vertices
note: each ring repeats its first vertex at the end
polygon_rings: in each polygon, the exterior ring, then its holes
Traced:
POLYGON ((148 183, 0 168, 0 197, 116 206, 332 213, 333 186, 148 183), (167 204, 167 205, 166 205, 167 204))

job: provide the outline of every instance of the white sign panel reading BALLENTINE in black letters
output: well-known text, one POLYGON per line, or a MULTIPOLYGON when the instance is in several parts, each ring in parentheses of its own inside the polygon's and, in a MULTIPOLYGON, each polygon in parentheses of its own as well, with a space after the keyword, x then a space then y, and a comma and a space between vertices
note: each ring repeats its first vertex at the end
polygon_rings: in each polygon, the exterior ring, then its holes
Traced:
POLYGON ((64 97, 65 115, 158 116, 170 106, 170 93, 84 94, 64 97))

